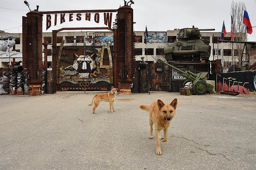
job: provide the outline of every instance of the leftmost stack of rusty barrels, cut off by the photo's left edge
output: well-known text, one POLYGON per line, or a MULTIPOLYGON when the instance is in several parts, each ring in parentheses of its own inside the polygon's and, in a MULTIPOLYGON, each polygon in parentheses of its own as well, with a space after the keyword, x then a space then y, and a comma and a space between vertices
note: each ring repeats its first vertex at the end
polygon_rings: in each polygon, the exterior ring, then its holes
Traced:
POLYGON ((9 94, 9 68, 0 68, 0 94, 9 94))

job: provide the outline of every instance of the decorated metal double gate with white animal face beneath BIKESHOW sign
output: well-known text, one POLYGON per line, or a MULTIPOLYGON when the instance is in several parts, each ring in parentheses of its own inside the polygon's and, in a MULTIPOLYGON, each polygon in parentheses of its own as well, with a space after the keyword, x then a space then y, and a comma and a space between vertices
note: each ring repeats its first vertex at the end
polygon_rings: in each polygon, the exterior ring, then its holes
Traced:
POLYGON ((113 46, 63 46, 57 60, 57 91, 110 90, 112 56, 113 46))

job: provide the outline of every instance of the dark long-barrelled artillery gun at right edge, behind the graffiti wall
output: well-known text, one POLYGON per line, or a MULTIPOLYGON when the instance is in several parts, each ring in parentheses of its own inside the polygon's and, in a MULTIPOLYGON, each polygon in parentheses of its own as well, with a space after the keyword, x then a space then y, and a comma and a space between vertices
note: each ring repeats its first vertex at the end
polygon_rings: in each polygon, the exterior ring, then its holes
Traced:
MULTIPOLYGON (((252 45, 251 48, 256 48, 256 42, 255 42, 255 41, 228 41, 228 40, 218 40, 218 42, 250 44, 250 45, 252 45)), ((245 49, 243 49, 243 50, 245 50, 245 49)), ((244 54, 244 53, 241 54, 241 61, 243 61, 243 60, 242 60, 242 59, 243 59, 243 58, 242 58, 242 57, 243 57, 243 54, 244 54)), ((248 61, 243 62, 243 63, 249 63, 249 61, 250 61, 250 57, 249 57, 249 55, 248 55, 248 61)), ((254 66, 255 64, 256 64, 256 62, 254 62, 252 66, 254 66)), ((238 66, 238 65, 236 65, 236 64, 233 64, 232 66, 230 66, 230 67, 228 68, 228 71, 227 71, 227 72, 244 71, 244 70, 248 70, 249 67, 251 67, 251 66, 249 66, 249 64, 243 65, 243 64, 241 63, 241 66, 238 66)))

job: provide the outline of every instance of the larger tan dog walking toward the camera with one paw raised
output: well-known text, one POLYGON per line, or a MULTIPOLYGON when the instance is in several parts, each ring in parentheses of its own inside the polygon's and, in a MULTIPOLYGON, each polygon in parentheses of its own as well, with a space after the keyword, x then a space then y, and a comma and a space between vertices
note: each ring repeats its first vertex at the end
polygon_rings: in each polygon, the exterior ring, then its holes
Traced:
POLYGON ((149 111, 149 125, 150 136, 149 139, 153 139, 153 124, 155 124, 155 140, 156 140, 156 154, 162 155, 160 147, 160 134, 161 130, 164 130, 164 138, 162 142, 167 141, 168 128, 171 124, 171 120, 175 115, 175 109, 177 107, 177 99, 175 98, 170 104, 165 104, 161 100, 154 101, 150 105, 141 105, 142 110, 149 111))

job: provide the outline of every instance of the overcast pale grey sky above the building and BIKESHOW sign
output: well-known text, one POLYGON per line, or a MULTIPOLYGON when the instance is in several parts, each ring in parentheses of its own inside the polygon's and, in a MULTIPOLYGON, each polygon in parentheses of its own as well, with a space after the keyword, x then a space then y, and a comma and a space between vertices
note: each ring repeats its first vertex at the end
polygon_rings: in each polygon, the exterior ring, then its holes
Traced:
MULTIPOLYGON (((27 0, 30 9, 34 10, 39 5, 39 10, 58 11, 58 10, 89 10, 89 9, 118 9, 123 6, 123 0, 27 0)), ((221 32, 222 22, 225 20, 227 32, 230 32, 230 5, 231 0, 134 0, 132 5, 134 10, 133 19, 134 31, 144 31, 147 25, 148 31, 167 31, 175 28, 195 27, 198 28, 215 28, 221 32)), ((244 0, 252 26, 256 26, 256 0, 244 0)), ((0 30, 5 32, 17 33, 22 31, 22 16, 26 16, 28 7, 24 4, 24 0, 0 0, 0 30), (3 8, 12 8, 18 10, 10 10, 3 8), (9 29, 18 27, 14 29, 9 29), (9 29, 9 30, 6 30, 9 29)), ((67 15, 67 14, 66 14, 67 15)), ((100 22, 94 22, 94 14, 91 21, 86 21, 82 16, 81 21, 69 22, 66 16, 66 22, 60 25, 60 16, 57 19, 59 27, 51 26, 46 31, 46 15, 43 18, 43 32, 51 32, 51 30, 60 27, 104 27, 103 14, 100 14, 100 22)), ((114 21, 115 14, 112 17, 114 21)), ((54 16, 52 16, 54 22, 54 16)), ((250 41, 256 41, 256 27, 253 33, 248 34, 250 41)))

